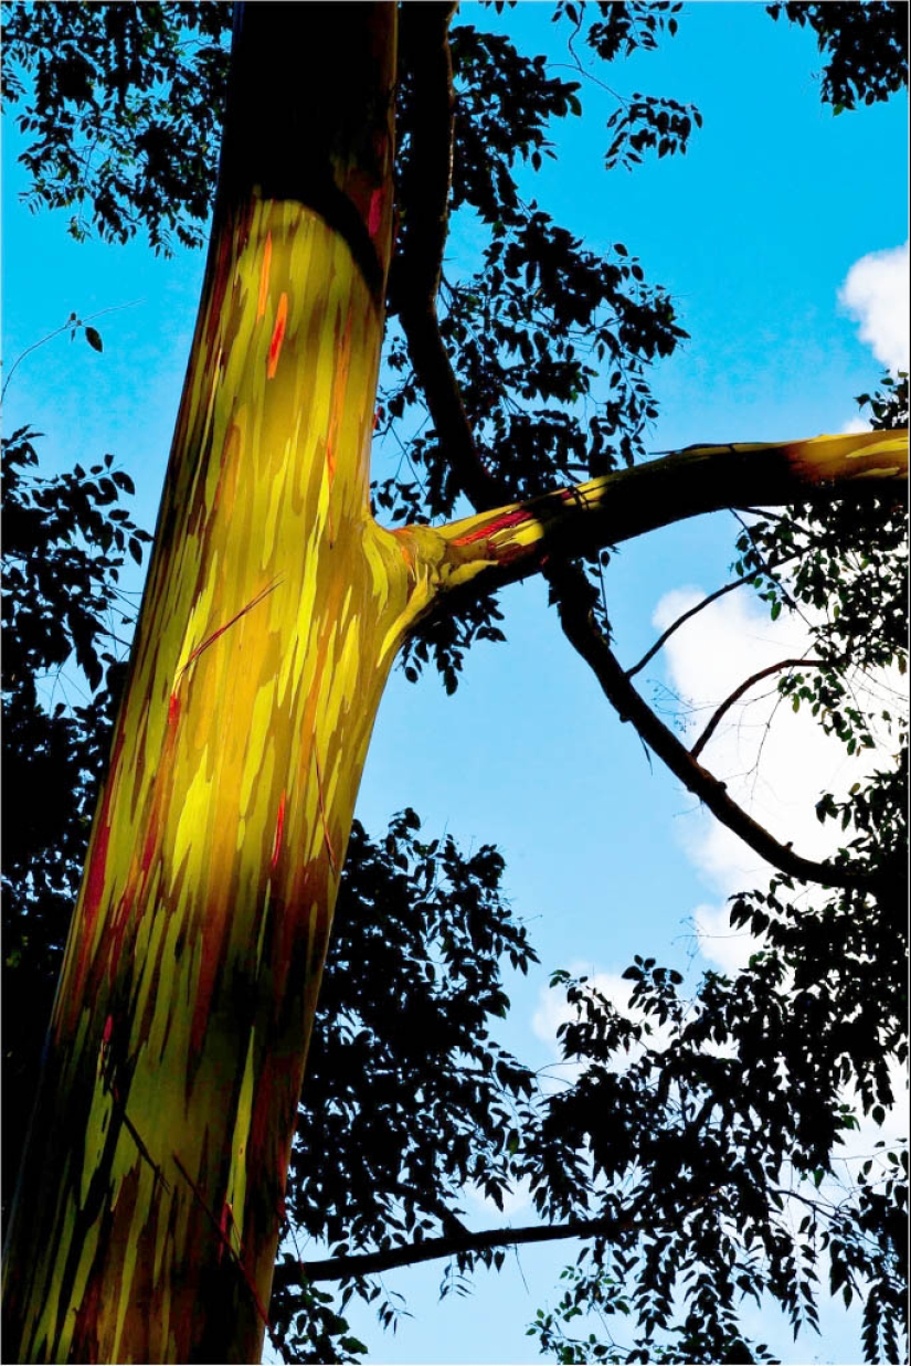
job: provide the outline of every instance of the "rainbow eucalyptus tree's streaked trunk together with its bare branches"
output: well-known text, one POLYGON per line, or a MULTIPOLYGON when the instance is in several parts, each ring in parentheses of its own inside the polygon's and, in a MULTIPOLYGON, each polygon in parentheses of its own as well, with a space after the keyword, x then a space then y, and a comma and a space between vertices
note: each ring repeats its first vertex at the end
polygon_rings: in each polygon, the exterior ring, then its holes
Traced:
MULTIPOLYGON (((451 7, 421 8, 411 97, 451 137, 451 7)), ((238 10, 197 331, 11 1217, 11 1361, 260 1359, 358 781, 418 626, 545 572, 608 695, 683 772, 590 643, 571 559, 712 510, 897 485, 907 466, 881 432, 699 447, 504 503, 436 321, 444 157, 403 223, 397 311, 475 512, 380 526, 395 86, 393 4, 238 10)), ((759 852, 819 878, 698 773, 759 852)))

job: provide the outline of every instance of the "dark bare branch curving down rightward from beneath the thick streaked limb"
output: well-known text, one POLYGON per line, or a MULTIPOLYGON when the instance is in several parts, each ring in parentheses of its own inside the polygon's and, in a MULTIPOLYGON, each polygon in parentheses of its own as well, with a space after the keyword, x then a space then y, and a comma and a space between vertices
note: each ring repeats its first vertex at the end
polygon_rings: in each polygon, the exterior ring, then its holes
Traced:
POLYGON ((803 858, 789 844, 780 844, 765 826, 754 821, 743 807, 728 795, 724 783, 702 768, 692 758, 676 735, 656 716, 647 702, 630 683, 623 667, 613 654, 606 639, 597 627, 590 609, 591 589, 574 566, 561 566, 549 572, 550 582, 559 594, 559 611, 563 630, 579 654, 591 667, 608 701, 616 708, 623 721, 631 721, 649 749, 654 750, 671 772, 694 796, 706 806, 716 820, 733 831, 744 844, 766 859, 785 877, 796 877, 806 882, 819 882, 824 887, 840 887, 858 891, 874 887, 878 880, 862 873, 839 867, 833 863, 817 863, 803 858))

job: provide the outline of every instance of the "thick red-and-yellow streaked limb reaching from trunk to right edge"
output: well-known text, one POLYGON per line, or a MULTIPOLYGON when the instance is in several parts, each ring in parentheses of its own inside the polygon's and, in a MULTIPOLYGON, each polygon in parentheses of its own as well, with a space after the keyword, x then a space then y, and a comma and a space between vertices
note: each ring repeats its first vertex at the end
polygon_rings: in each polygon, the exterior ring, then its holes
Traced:
POLYGON ((440 587, 482 591, 538 572, 546 560, 590 555, 661 526, 723 508, 904 496, 907 432, 807 441, 687 447, 631 470, 451 522, 440 587))

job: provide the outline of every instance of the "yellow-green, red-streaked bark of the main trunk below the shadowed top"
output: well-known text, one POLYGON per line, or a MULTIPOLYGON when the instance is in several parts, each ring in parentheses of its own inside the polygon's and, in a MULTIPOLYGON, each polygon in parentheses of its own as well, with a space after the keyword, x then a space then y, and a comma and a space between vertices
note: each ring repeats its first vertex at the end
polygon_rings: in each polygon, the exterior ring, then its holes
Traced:
MULTIPOLYGON (((355 12, 382 117, 369 161, 333 146, 335 180, 381 287, 393 8, 355 12)), ((369 516, 382 310, 356 255, 299 198, 255 179, 223 197, 12 1216, 11 1361, 260 1359, 339 873, 415 583, 369 516)))

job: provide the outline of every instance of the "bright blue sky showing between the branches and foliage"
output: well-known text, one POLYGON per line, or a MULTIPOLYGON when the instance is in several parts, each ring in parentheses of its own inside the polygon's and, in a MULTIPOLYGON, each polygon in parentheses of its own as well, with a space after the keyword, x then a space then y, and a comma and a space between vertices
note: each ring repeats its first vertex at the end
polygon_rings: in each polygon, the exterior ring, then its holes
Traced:
MULTIPOLYGON (((530 0, 500 18, 463 5, 467 20, 505 29, 524 51, 565 61, 549 15, 548 4, 530 0)), ((534 186, 531 176, 523 182, 527 195, 593 247, 626 243, 675 298, 691 340, 654 372, 654 449, 841 430, 856 418, 852 396, 875 385, 886 354, 900 352, 900 255, 877 258, 854 277, 855 298, 873 301, 865 316, 880 339, 878 358, 860 340, 856 309, 852 316, 839 298, 858 262, 907 242, 906 107, 893 100, 836 119, 819 102, 818 68, 813 37, 773 23, 759 4, 687 5, 676 38, 602 72, 624 94, 694 101, 705 124, 687 156, 646 161, 632 175, 604 173, 613 101, 583 79, 585 117, 559 131, 559 163, 545 164, 534 186)), ((71 310, 83 318, 115 311, 96 321, 102 355, 82 339, 57 337, 23 361, 10 387, 7 430, 29 422, 46 433, 40 451, 49 470, 112 451, 137 482, 138 519, 152 527, 202 254, 165 261, 142 243, 74 243, 64 214, 31 217, 19 205, 19 149, 7 130, 4 355, 15 359, 71 310)), ((458 272, 470 250, 470 235, 453 236, 447 269, 458 272)), ((907 366, 907 343, 904 357, 907 366)), ((729 516, 701 518, 623 546, 609 568, 608 604, 624 663, 651 643, 656 615, 667 622, 675 604, 679 611, 725 582, 735 534, 729 516)), ((139 578, 130 586, 138 589, 139 578)), ((393 675, 358 814, 377 832, 410 805, 433 833, 449 831, 463 847, 500 846, 509 895, 542 960, 530 979, 509 982, 514 1009, 503 1037, 549 1067, 550 970, 587 967, 611 985, 632 953, 647 952, 695 986, 709 962, 733 966, 743 947, 699 938, 697 923, 717 933, 724 897, 761 872, 713 835, 657 761, 649 766, 563 639, 541 585, 519 585, 503 604, 509 643, 475 647, 453 698, 436 678, 414 687, 393 675)), ((725 694, 729 673, 744 676, 766 656, 781 657, 780 638, 769 643, 747 604, 703 613, 688 643, 654 661, 642 686, 650 697, 671 687, 706 706, 725 694)), ((744 716, 714 761, 744 772, 744 799, 763 811, 766 803, 791 837, 795 825, 803 832, 800 781, 809 773, 807 791, 814 781, 818 790, 815 765, 824 759, 803 734, 788 732, 757 780, 748 753, 755 724, 744 716)), ((477 1202, 466 1209, 474 1228, 496 1221, 477 1202)), ((516 1206, 512 1217, 526 1223, 530 1212, 516 1206)), ((500 1277, 482 1277, 474 1296, 443 1305, 441 1266, 389 1276, 415 1317, 395 1339, 381 1335, 370 1311, 356 1315, 355 1329, 374 1346, 374 1362, 533 1361, 524 1326, 538 1306, 556 1302, 559 1269, 571 1258, 570 1244, 523 1251, 500 1277)), ((824 1325, 822 1339, 796 1346, 773 1320, 762 1336, 785 1362, 860 1359, 855 1318, 826 1310, 824 1325)))

